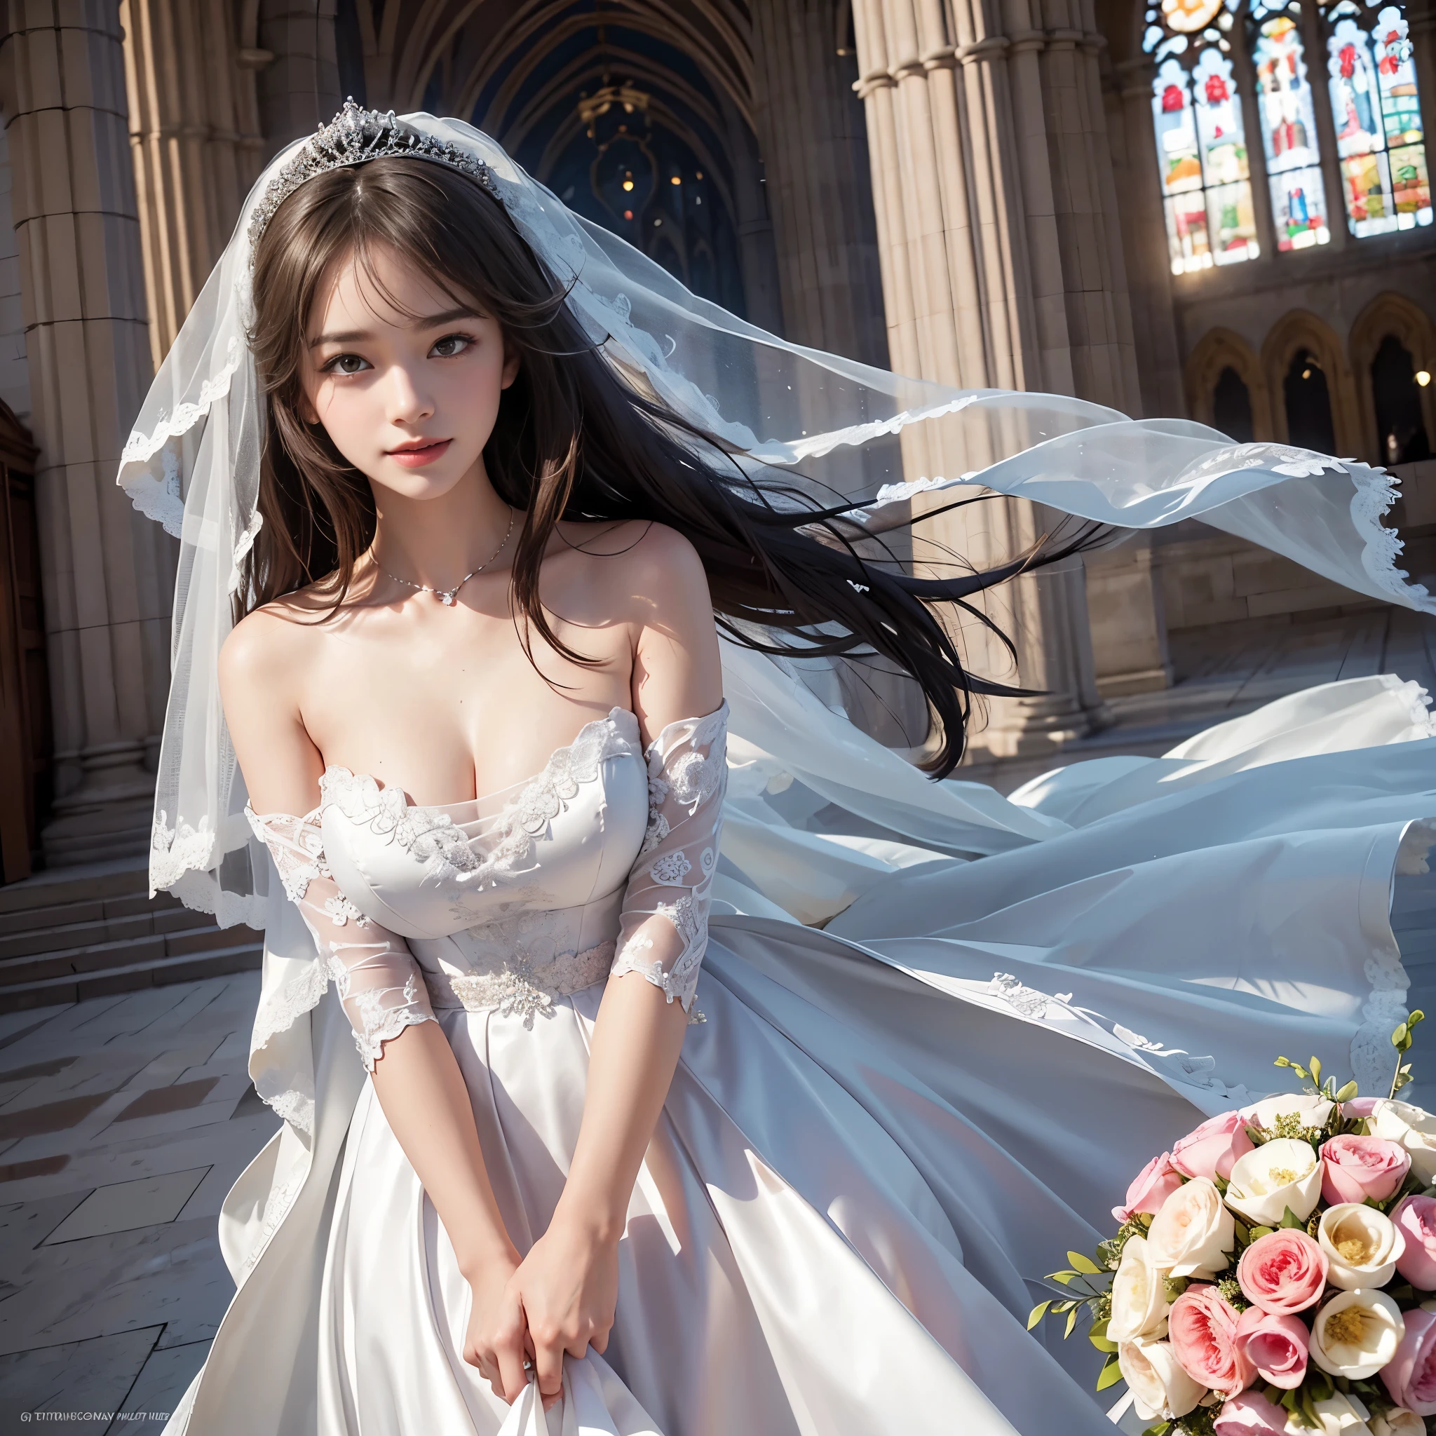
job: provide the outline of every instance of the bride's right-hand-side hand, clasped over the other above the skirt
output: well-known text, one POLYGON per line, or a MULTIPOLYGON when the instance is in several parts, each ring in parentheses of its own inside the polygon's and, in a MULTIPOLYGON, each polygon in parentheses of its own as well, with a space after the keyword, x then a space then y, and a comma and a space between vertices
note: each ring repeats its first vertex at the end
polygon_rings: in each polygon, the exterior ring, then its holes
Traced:
POLYGON ((616 1238, 563 1221, 530 1248, 508 1284, 523 1308, 543 1407, 563 1394, 563 1356, 603 1351, 619 1298, 616 1238))

